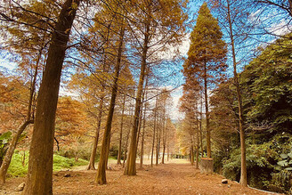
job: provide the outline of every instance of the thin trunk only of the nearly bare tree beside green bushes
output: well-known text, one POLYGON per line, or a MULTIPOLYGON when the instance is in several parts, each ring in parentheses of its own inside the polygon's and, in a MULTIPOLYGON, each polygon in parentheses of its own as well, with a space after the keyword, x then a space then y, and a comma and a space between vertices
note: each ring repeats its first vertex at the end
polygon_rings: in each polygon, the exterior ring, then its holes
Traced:
POLYGON ((233 60, 233 77, 234 83, 236 86, 236 93, 239 103, 239 134, 240 134, 240 148, 241 148, 241 170, 240 170, 240 184, 247 187, 247 159, 246 159, 246 143, 245 143, 245 131, 243 128, 243 118, 242 118, 242 102, 241 102, 241 93, 239 85, 239 77, 237 74, 237 62, 236 62, 236 53, 235 53, 235 44, 231 23, 231 9, 230 1, 227 0, 227 9, 228 9, 228 23, 231 35, 231 51, 232 51, 232 60, 233 60))

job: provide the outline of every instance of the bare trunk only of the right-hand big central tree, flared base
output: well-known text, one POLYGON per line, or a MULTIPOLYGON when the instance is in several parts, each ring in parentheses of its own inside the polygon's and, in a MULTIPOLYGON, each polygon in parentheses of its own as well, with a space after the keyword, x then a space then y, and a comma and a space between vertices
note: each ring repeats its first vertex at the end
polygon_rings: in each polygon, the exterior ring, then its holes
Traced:
POLYGON ((142 64, 140 70, 140 78, 139 78, 139 85, 138 91, 136 95, 136 104, 134 110, 134 126, 132 129, 131 134, 131 142, 130 142, 130 149, 128 153, 128 158, 126 160, 126 167, 124 171, 124 175, 136 175, 136 153, 137 153, 137 131, 139 126, 139 118, 140 118, 140 110, 141 110, 141 99, 142 99, 142 90, 144 84, 144 77, 145 77, 145 69, 147 66, 146 58, 148 52, 148 43, 149 43, 149 32, 150 32, 150 15, 148 16, 148 20, 146 22, 146 32, 144 34, 144 43, 142 46, 142 64))

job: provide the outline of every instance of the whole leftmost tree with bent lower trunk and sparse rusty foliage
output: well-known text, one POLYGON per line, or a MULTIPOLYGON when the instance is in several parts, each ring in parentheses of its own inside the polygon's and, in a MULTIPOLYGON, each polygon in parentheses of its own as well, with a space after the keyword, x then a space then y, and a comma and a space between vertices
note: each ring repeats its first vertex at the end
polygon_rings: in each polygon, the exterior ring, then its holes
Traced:
MULTIPOLYGON (((46 15, 50 17, 55 12, 49 12, 49 8, 45 6, 43 2, 34 2, 32 4, 24 4, 23 10, 30 10, 30 12, 39 12, 40 15, 46 15)), ((41 16, 31 16, 29 12, 21 12, 17 15, 17 20, 23 23, 31 22, 31 20, 41 20, 41 16)), ((3 25, 3 28, 7 28, 7 24, 3 25)), ((17 146, 17 142, 20 139, 20 135, 26 129, 26 127, 33 123, 34 111, 33 104, 36 100, 37 92, 37 77, 39 75, 39 69, 41 69, 41 62, 44 58, 46 45, 50 35, 46 30, 50 28, 49 23, 36 23, 35 27, 25 26, 20 28, 19 26, 10 26, 8 28, 8 34, 10 35, 8 40, 4 43, 4 49, 12 51, 13 54, 17 54, 21 61, 19 63, 18 70, 24 77, 27 77, 29 81, 29 96, 28 96, 28 110, 26 119, 23 124, 20 125, 18 131, 13 134, 12 141, 4 157, 4 164, 0 168, 0 183, 5 182, 6 173, 11 163, 12 154, 17 146), (37 28, 42 28, 36 29, 37 28), (28 38, 24 38, 24 35, 28 38)))

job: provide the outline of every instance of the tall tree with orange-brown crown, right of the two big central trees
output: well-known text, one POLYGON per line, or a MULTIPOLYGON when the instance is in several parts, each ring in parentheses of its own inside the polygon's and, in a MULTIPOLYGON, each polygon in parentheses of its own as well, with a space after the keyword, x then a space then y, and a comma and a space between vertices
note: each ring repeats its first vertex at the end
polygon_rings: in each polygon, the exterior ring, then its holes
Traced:
POLYGON ((142 1, 133 6, 133 23, 135 37, 141 37, 137 41, 137 49, 141 55, 140 77, 136 93, 134 110, 134 126, 131 134, 130 150, 125 175, 136 175, 137 132, 142 106, 142 91, 144 85, 145 70, 153 53, 161 50, 165 45, 175 45, 181 41, 184 21, 187 15, 183 12, 184 1, 142 1), (136 18, 136 19, 135 19, 136 18), (158 35, 158 36, 156 36, 158 35), (150 46, 151 45, 151 46, 150 46), (151 53, 150 53, 151 52, 151 53))

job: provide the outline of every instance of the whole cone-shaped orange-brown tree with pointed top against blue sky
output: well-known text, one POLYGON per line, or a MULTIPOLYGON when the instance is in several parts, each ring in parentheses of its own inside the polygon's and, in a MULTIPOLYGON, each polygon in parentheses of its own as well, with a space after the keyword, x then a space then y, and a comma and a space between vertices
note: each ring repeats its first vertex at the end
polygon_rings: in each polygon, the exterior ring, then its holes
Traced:
POLYGON ((222 37, 223 33, 218 21, 215 20, 207 8, 207 3, 202 4, 199 9, 197 24, 191 32, 191 45, 188 59, 183 65, 183 73, 187 77, 197 79, 204 89, 208 158, 211 158, 208 93, 217 82, 223 79, 223 71, 226 69, 227 48, 222 37))

